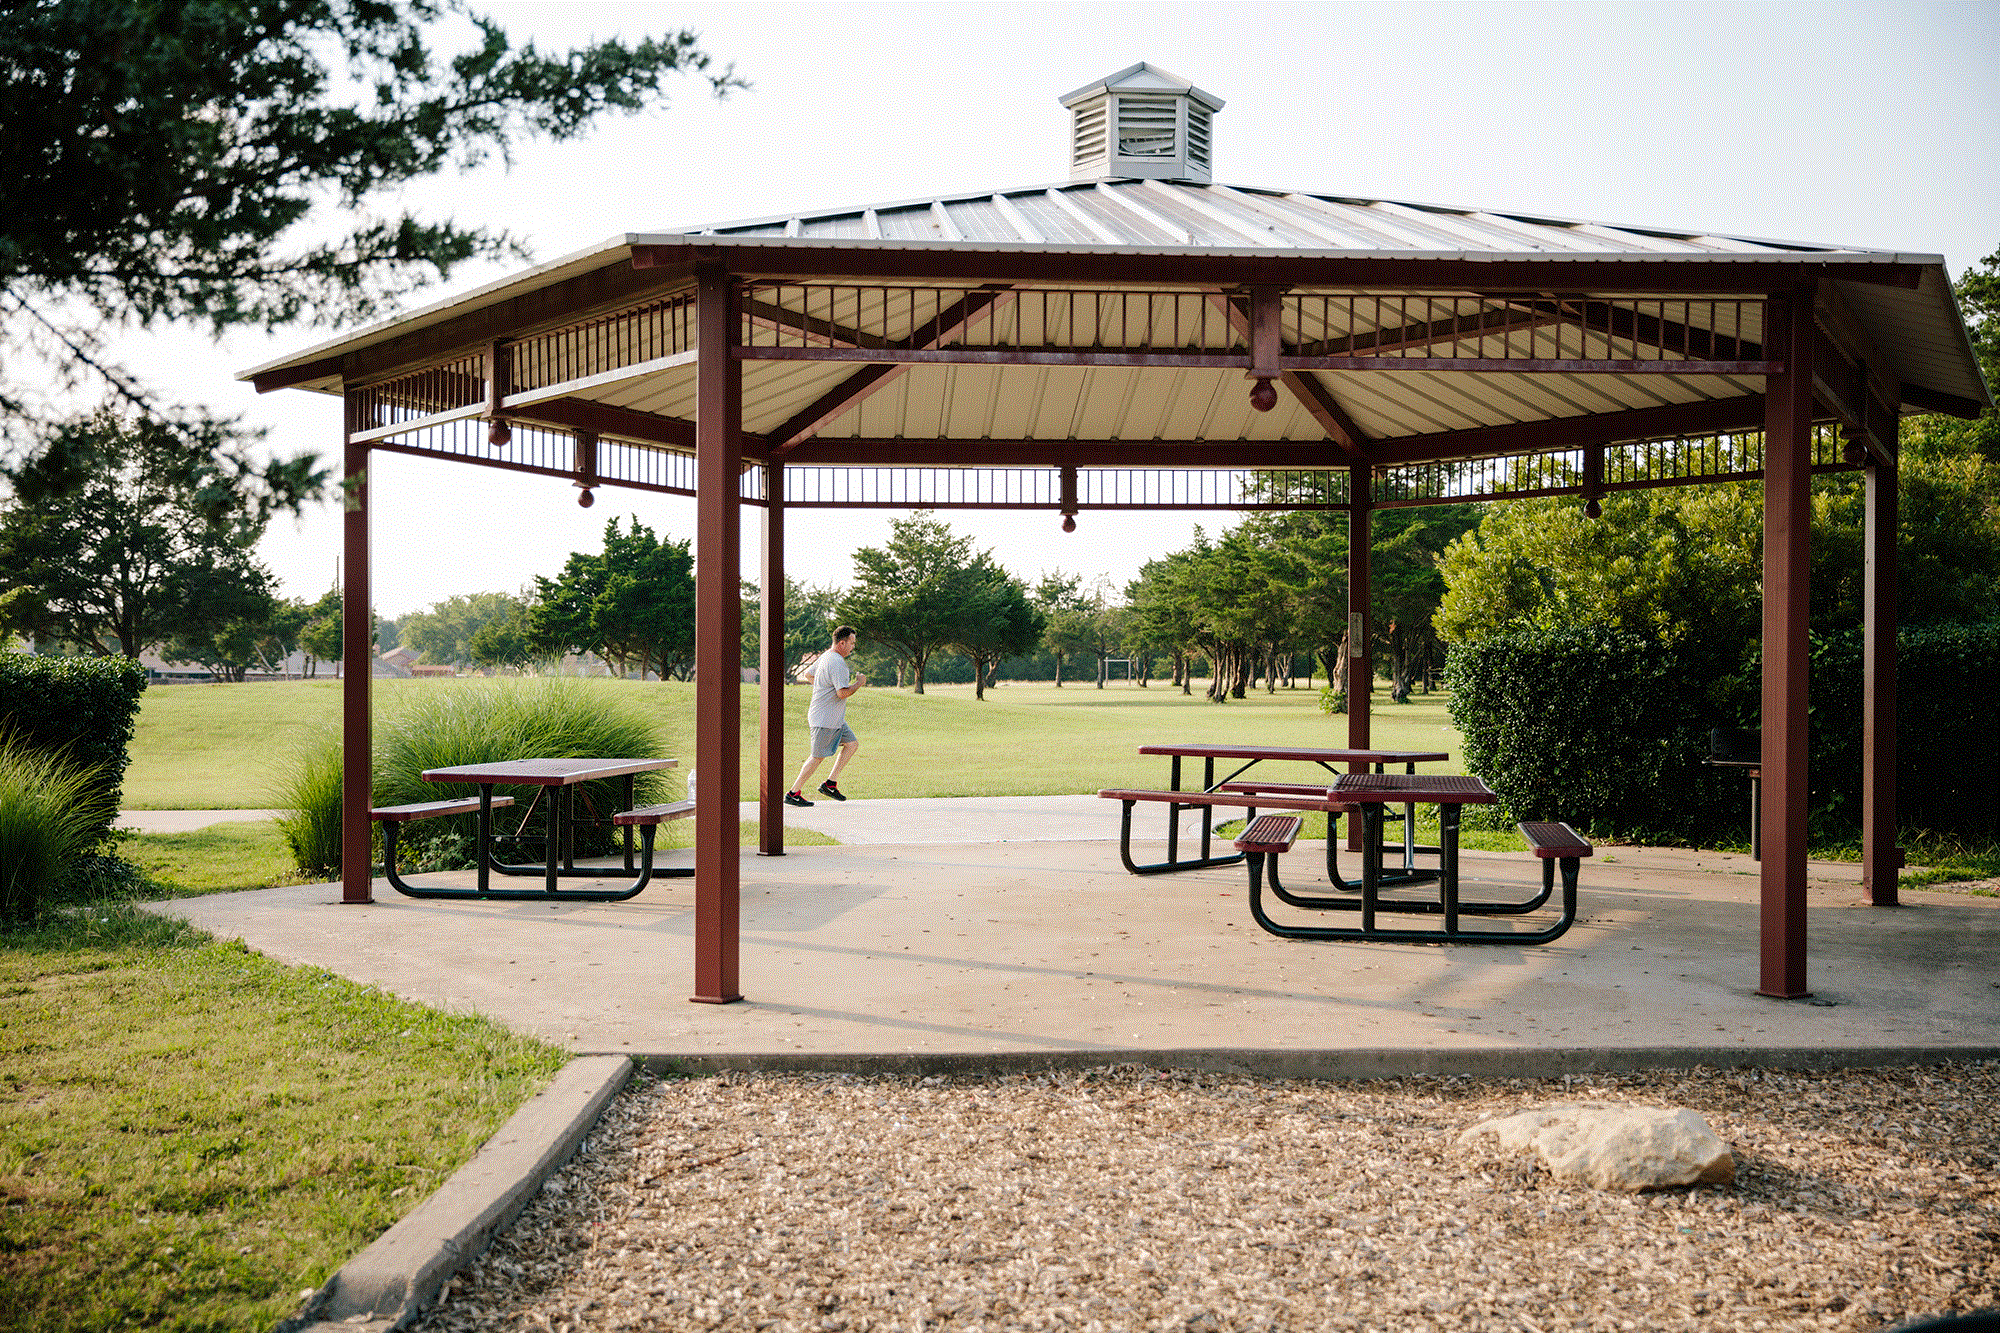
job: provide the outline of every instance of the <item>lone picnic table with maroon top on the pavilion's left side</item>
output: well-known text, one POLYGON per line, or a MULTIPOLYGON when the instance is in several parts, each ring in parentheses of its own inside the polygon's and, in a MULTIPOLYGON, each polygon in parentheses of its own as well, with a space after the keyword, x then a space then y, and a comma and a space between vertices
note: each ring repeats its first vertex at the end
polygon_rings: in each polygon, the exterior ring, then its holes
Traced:
MULTIPOLYGON (((632 831, 624 831, 624 871, 634 875, 624 889, 558 889, 562 879, 606 879, 604 867, 576 865, 576 789, 582 783, 624 779, 624 809, 632 809, 632 779, 640 773, 676 769, 676 759, 508 759, 484 765, 426 769, 426 783, 468 785, 480 789, 478 833, 474 835, 474 889, 444 889, 410 885, 396 871, 394 835, 384 825, 382 873, 396 893, 412 899, 488 899, 528 903, 622 903, 644 893, 654 879, 686 879, 694 867, 654 869, 652 829, 646 829, 644 849, 634 865, 632 831), (548 815, 540 837, 510 835, 514 841, 542 843, 542 865, 506 863, 494 859, 494 787, 548 789, 548 815), (494 889, 492 875, 542 877, 540 889, 494 889)), ((540 797, 536 797, 540 801, 540 797)), ((528 811, 522 813, 526 823, 528 811)), ((502 835, 508 837, 508 835, 502 835)))

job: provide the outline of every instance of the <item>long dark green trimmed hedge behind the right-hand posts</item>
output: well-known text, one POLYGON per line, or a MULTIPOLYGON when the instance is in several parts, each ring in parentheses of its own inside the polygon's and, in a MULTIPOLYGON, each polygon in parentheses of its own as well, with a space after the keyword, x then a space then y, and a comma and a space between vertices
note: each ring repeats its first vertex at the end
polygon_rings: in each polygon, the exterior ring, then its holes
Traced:
MULTIPOLYGON (((2000 835, 2000 624, 1898 632, 1898 825, 2000 835)), ((1814 634, 1808 813, 1852 835, 1862 793, 1862 636, 1814 634)), ((1756 727, 1758 654, 1718 679, 1672 648, 1608 628, 1524 630, 1452 648, 1446 683, 1464 759, 1500 795, 1504 827, 1560 819, 1600 835, 1748 835, 1748 791, 1708 763, 1712 727, 1756 727), (1728 701, 1752 701, 1738 715, 1728 701)))

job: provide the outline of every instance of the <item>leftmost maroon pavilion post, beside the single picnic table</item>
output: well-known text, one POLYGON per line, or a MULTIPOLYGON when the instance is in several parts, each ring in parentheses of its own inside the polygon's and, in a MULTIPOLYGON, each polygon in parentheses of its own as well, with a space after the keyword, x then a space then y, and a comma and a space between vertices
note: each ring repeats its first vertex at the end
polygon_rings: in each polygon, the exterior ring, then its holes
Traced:
MULTIPOLYGON (((342 412, 342 430, 354 420, 342 412)), ((368 592, 368 444, 346 438, 340 514, 340 901, 374 903, 370 825, 374 803, 372 699, 374 606, 368 592)))

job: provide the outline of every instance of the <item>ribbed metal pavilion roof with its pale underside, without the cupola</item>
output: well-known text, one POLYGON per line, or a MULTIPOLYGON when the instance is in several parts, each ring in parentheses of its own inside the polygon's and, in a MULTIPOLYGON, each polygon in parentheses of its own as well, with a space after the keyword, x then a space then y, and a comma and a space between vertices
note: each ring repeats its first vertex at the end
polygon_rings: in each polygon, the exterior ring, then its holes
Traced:
MULTIPOLYGON (((816 280, 832 280, 832 274, 850 272, 880 282, 892 280, 888 274, 908 272, 910 280, 926 282, 928 276, 936 282, 940 264, 958 262, 970 272, 990 260, 994 266, 1010 266, 1006 276, 1012 282, 1084 288, 1120 284, 1094 280, 1094 274, 1114 272, 1120 266, 1126 274, 1122 284, 1130 286, 1134 282, 1130 274, 1138 266, 1146 274, 1160 274, 1138 282, 1182 284, 1196 300, 1198 282, 1184 278, 1184 272, 1192 272, 1198 264, 1206 264, 1208 272, 1220 272, 1238 260, 1258 264, 1266 274, 1254 278, 1260 282, 1292 280, 1294 268, 1306 274, 1322 272, 1328 264, 1366 266, 1390 260, 1404 266, 1398 282, 1410 292, 1476 292, 1486 262, 1494 270, 1512 266, 1512 282, 1518 288, 1524 264, 1530 266, 1528 272, 1548 264, 1550 290, 1592 296, 1648 290, 1648 280, 1672 282, 1674 286, 1666 290, 1680 294, 1740 292, 1740 280, 1730 280, 1740 266, 1768 268, 1804 260, 1816 268, 1824 264, 1822 272, 1832 278, 1830 286, 1876 348, 1870 358, 1874 366, 1896 382, 1936 394, 1940 400, 1990 402, 1952 300, 1944 260, 1934 254, 1128 178, 948 194, 616 236, 594 250, 268 362, 244 372, 242 378, 254 378, 260 386, 290 384, 340 392, 344 374, 352 374, 356 364, 394 364, 392 348, 428 346, 432 338, 448 336, 450 328, 478 324, 482 312, 498 316, 502 310, 528 310, 578 282, 600 282, 612 292, 600 306, 608 308, 616 292, 636 290, 632 268, 648 248, 678 254, 682 260, 698 252, 722 258, 732 272, 750 278, 806 272, 818 274, 816 280), (1186 268, 1176 260, 1184 260, 1186 268), (1426 280, 1424 270, 1432 264, 1450 276, 1438 282, 1426 280), (1904 278, 1900 286, 1862 280, 1890 266, 1918 270, 1920 278, 1914 284, 1904 278), (1602 278, 1596 276, 1598 270, 1604 272, 1602 278), (1048 276, 1042 276, 1044 272, 1048 276), (1702 276, 1710 272, 1716 276, 1714 288, 1708 288, 1702 276)), ((1544 286, 1538 280, 1530 284, 1544 286)), ((1302 276, 1298 286, 1338 290, 1328 288, 1324 278, 1302 276)), ((574 310, 568 298, 562 304, 574 310)), ((526 324, 532 326, 534 320, 526 324)), ((878 332, 898 336, 888 326, 878 332)), ((760 430, 790 420, 844 374, 838 364, 752 364, 746 380, 746 426, 760 430)), ((1318 378, 1360 430, 1386 440, 1720 398, 1744 400, 1762 392, 1758 376, 1462 376, 1358 370, 1318 378)), ((580 396, 688 420, 692 392, 692 368, 678 366, 646 378, 580 390, 580 396)), ((1176 378, 1172 372, 1150 368, 1002 370, 962 364, 914 366, 896 392, 858 402, 842 418, 828 420, 818 434, 828 440, 842 436, 1314 440, 1324 438, 1324 428, 1312 412, 1290 400, 1276 412, 1250 412, 1242 402, 1240 372, 1176 378)))

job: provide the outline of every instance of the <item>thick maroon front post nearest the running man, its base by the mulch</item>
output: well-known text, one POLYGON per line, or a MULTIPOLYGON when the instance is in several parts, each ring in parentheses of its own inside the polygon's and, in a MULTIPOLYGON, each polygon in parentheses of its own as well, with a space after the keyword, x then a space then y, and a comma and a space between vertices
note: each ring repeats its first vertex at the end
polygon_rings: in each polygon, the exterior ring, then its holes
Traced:
POLYGON ((742 783, 742 592, 738 578, 742 362, 738 292, 720 266, 698 286, 694 372, 694 995, 740 1001, 736 989, 740 865, 736 791, 742 783))

